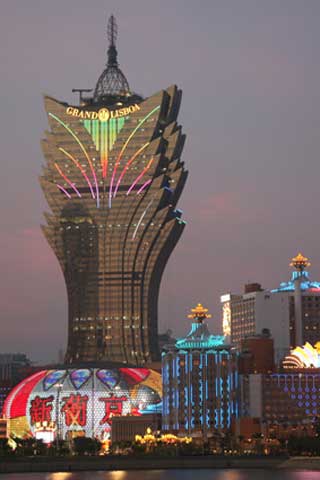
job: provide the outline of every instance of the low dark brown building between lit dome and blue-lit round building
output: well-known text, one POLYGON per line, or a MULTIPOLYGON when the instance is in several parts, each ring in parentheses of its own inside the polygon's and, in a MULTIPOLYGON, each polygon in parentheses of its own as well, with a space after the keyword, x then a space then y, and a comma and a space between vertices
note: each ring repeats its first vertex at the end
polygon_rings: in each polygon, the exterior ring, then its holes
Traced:
POLYGON ((136 435, 145 435, 147 428, 152 432, 161 430, 161 414, 153 413, 141 417, 126 415, 112 419, 111 442, 133 442, 136 435))

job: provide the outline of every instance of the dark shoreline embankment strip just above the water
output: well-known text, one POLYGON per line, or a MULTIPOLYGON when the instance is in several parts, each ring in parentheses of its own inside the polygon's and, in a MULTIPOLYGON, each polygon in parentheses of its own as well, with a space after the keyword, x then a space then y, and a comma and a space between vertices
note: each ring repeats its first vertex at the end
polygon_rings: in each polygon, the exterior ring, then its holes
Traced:
POLYGON ((0 474, 174 469, 319 470, 320 457, 34 457, 0 458, 0 474))

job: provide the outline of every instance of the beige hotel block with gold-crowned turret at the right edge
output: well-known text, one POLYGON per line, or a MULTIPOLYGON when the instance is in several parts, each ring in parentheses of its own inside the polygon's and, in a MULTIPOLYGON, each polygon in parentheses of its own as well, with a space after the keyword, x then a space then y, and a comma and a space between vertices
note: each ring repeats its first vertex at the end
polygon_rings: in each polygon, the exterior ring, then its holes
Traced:
POLYGON ((310 263, 301 253, 290 265, 295 268, 291 281, 277 289, 250 284, 242 295, 221 296, 223 331, 238 350, 244 338, 267 328, 279 363, 296 345, 320 338, 320 283, 310 281, 310 263))

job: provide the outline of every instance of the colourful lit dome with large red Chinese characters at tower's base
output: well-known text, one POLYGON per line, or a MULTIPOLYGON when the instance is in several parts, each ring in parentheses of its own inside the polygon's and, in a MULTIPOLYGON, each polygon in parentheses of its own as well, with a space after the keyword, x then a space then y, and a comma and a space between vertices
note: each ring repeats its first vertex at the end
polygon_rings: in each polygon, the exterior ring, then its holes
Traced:
POLYGON ((161 412, 161 375, 146 368, 44 370, 18 384, 3 414, 18 437, 105 439, 115 415, 161 412))

